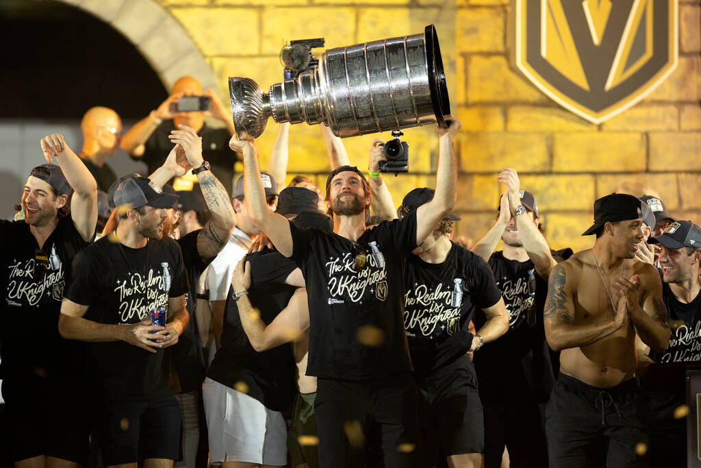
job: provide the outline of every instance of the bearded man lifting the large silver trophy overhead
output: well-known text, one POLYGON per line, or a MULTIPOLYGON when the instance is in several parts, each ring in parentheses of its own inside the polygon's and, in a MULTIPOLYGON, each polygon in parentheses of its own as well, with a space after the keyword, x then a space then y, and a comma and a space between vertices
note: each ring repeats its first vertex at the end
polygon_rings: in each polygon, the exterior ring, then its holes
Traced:
MULTIPOLYGON (((452 118, 451 118, 452 119, 452 118)), ((369 185, 358 168, 327 179, 334 232, 299 229, 266 206, 254 140, 232 138, 244 154, 252 220, 301 269, 308 293, 307 375, 317 377, 315 414, 322 467, 365 464, 365 437, 379 434, 387 467, 420 466, 417 389, 404 333, 404 262, 453 208, 454 135, 438 128, 440 152, 433 200, 402 218, 367 229, 369 185)), ((372 176, 372 174, 370 174, 372 176)))

